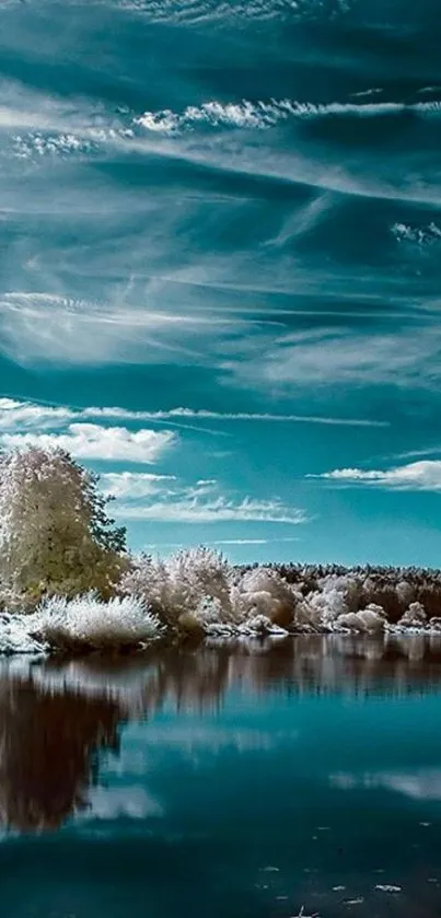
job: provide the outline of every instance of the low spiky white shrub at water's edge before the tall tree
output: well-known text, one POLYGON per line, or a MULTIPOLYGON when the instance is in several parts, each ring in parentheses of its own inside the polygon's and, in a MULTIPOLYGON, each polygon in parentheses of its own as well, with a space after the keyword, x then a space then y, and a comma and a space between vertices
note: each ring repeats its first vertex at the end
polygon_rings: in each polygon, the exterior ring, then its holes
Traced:
POLYGON ((37 638, 57 650, 117 650, 150 643, 163 634, 156 616, 135 596, 107 603, 93 593, 73 600, 53 596, 28 623, 37 638))

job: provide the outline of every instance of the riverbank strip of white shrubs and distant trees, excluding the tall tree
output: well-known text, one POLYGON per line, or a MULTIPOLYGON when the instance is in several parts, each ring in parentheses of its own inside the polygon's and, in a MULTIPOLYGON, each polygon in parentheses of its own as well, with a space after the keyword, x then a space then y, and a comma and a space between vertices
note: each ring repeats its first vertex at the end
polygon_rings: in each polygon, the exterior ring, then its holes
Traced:
POLYGON ((441 632, 439 571, 321 566, 235 568, 200 548, 143 557, 103 601, 47 596, 0 613, 0 653, 134 652, 159 642, 290 635, 441 632))

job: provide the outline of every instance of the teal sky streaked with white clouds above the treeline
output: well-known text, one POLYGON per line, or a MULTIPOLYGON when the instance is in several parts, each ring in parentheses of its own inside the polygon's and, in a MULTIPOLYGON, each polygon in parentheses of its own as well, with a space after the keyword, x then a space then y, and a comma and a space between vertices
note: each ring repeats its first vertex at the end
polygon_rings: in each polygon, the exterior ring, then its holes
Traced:
POLYGON ((135 551, 437 567, 440 32, 0 4, 0 446, 98 472, 135 551))

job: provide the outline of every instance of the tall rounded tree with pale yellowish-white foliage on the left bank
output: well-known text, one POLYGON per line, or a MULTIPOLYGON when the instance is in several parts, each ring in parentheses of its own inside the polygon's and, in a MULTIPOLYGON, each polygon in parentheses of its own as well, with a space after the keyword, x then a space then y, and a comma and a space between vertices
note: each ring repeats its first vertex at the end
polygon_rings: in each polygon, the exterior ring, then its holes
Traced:
POLYGON ((96 590, 102 599, 129 567, 126 531, 106 513, 98 476, 62 450, 0 455, 0 588, 38 601, 96 590))

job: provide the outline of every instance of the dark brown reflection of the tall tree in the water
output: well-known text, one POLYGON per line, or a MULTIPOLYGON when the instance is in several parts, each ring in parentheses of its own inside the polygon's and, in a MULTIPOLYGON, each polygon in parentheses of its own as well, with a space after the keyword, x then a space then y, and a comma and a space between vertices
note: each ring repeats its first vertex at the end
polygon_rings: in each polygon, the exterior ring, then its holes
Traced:
POLYGON ((115 701, 56 694, 32 679, 0 682, 0 818, 54 829, 88 805, 97 753, 118 749, 115 701))

